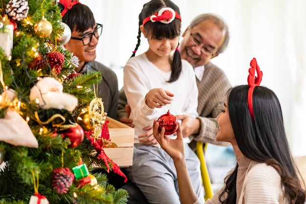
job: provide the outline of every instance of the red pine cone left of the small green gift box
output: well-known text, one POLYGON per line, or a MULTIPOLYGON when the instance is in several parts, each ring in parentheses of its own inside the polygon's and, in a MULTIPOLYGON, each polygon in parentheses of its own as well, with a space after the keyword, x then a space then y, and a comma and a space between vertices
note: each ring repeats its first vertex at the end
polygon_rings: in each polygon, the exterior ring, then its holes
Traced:
POLYGON ((53 189, 62 195, 67 193, 68 188, 74 180, 74 174, 69 168, 57 168, 53 170, 52 180, 53 189))

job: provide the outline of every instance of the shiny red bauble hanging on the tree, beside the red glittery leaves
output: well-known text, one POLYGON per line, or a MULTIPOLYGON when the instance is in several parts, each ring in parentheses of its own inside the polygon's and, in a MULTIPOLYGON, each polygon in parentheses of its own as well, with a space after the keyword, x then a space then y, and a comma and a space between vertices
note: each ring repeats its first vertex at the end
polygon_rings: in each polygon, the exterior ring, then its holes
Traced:
POLYGON ((81 125, 76 124, 76 127, 71 127, 61 132, 63 139, 69 138, 71 144, 69 147, 76 147, 83 142, 84 130, 81 125))

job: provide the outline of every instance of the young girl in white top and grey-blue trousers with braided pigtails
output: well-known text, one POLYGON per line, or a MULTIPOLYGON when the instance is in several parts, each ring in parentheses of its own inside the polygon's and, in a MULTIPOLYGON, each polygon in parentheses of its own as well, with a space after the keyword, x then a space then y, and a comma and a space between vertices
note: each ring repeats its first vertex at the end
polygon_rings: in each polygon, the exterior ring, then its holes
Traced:
MULTIPOLYGON (((144 4, 139 14, 138 43, 124 67, 124 91, 135 125, 133 165, 127 168, 127 175, 154 204, 180 203, 175 166, 153 135, 138 136, 168 110, 173 115, 197 117, 195 73, 187 61, 180 59, 177 48, 180 26, 179 9, 172 1, 151 0, 144 4), (134 57, 141 33, 148 39, 149 49, 134 57)), ((199 161, 188 146, 190 140, 184 138, 188 172, 204 202, 199 161)))

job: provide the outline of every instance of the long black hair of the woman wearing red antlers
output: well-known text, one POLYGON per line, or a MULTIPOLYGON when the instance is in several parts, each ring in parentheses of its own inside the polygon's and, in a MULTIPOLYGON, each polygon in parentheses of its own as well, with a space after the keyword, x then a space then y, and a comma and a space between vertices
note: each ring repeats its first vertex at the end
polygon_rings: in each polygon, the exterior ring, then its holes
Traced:
MULTIPOLYGON (((253 92, 252 120, 247 103, 248 90, 248 85, 236 86, 229 90, 227 98, 229 116, 240 151, 250 160, 266 163, 277 170, 290 204, 305 204, 305 184, 302 187, 290 153, 281 104, 272 90, 256 86, 253 92)), ((222 204, 236 203, 237 172, 238 164, 225 179, 225 189, 219 196, 222 204), (223 201, 222 196, 226 198, 223 201)))

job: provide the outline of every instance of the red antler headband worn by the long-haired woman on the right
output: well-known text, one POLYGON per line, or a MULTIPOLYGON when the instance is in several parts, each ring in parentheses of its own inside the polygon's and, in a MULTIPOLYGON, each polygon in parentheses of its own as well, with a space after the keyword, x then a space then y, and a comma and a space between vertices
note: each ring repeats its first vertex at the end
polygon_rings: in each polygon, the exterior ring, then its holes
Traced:
POLYGON ((249 106, 249 111, 252 119, 254 120, 253 112, 253 91, 255 86, 259 86, 262 82, 262 71, 260 70, 255 58, 250 62, 251 68, 249 68, 249 76, 247 77, 247 83, 249 85, 249 91, 247 94, 247 103, 249 106), (255 71, 257 72, 257 77, 255 77, 255 71))

